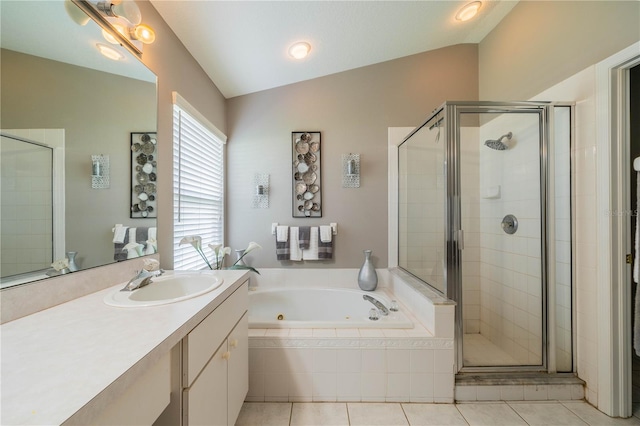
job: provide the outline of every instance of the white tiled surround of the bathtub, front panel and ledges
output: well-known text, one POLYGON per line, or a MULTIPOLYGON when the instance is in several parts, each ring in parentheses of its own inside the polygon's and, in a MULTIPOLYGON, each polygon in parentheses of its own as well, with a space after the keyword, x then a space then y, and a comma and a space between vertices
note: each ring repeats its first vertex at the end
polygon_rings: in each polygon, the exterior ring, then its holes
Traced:
MULTIPOLYGON (((399 300, 414 328, 250 329, 246 400, 453 402, 454 305, 419 293, 401 274, 377 272, 380 291, 399 300)), ((261 274, 252 286, 358 288, 357 269, 261 274)))

